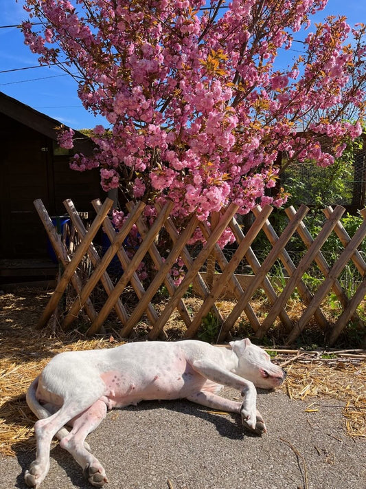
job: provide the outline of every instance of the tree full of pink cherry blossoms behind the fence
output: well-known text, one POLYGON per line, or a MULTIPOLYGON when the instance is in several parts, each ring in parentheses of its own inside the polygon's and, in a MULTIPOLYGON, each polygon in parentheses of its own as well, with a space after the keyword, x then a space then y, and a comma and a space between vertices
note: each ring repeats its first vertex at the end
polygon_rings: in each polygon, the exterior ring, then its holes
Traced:
MULTIPOLYGON (((279 152, 286 164, 328 166, 360 135, 366 27, 341 16, 310 27, 326 2, 25 0, 23 33, 108 121, 93 129, 93 157, 78 154, 71 167, 99 167, 104 190, 126 201, 169 198, 176 216, 207 219, 229 202, 243 214, 282 205, 279 152), (304 29, 302 53, 283 67, 304 29)), ((62 131, 61 144, 72 137, 62 131)))

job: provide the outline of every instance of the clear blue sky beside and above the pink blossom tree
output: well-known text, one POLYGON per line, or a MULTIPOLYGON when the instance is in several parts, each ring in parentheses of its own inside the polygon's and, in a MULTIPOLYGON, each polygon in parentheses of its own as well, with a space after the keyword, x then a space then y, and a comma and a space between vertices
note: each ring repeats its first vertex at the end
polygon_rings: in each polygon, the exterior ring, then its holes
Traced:
MULTIPOLYGON (((16 25, 27 19, 23 11, 23 0, 0 0, 0 91, 30 105, 74 129, 91 128, 103 124, 104 120, 94 117, 82 107, 76 92, 76 82, 58 67, 36 67, 36 55, 23 43, 23 34, 16 25), (22 68, 22 69, 21 69, 22 68), (27 68, 27 69, 23 69, 27 68), (8 70, 16 70, 10 71, 8 70)), ((365 0, 329 0, 328 6, 313 17, 323 20, 326 15, 344 14, 351 25, 366 23, 365 0)), ((311 28, 310 28, 311 30, 311 28)), ((299 33, 298 39, 301 39, 299 33)), ((301 44, 293 44, 293 50, 301 50, 301 44)), ((288 52, 288 56, 299 53, 288 52)))

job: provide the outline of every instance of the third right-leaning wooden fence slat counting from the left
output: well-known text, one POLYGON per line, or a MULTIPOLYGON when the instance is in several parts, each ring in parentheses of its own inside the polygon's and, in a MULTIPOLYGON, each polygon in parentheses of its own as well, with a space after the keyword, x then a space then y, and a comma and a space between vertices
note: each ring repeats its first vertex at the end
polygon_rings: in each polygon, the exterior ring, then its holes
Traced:
MULTIPOLYGON (((144 258, 144 256, 148 252, 148 248, 150 248, 155 237, 157 237, 157 234, 158 234, 161 226, 163 226, 163 223, 164 223, 165 219, 168 217, 171 210, 172 210, 172 202, 168 202, 167 204, 165 204, 161 214, 157 217, 157 219, 155 219, 155 222, 154 222, 154 224, 152 224, 148 234, 146 235, 146 237, 141 242, 139 249, 135 253, 135 256, 130 261, 129 268, 127 270, 124 270, 124 273, 122 274, 119 281, 116 283, 115 288, 113 289, 113 292, 110 294, 110 296, 108 296, 108 298, 107 298, 106 302, 104 303, 102 309, 100 309, 100 313, 98 314, 97 318, 95 319, 95 321, 93 322, 91 327, 89 327, 89 329, 87 331, 88 335, 95 334, 95 332, 97 332, 100 329, 100 327, 102 326, 102 324, 104 323, 104 321, 108 317, 108 314, 111 312, 111 309, 113 308, 113 305, 115 304, 115 301, 117 301, 117 298, 122 293, 122 290, 124 290, 124 287, 126 287, 127 283, 130 281, 131 276, 133 276, 133 274, 137 270, 139 263, 141 263, 142 259, 144 258)), ((133 213, 130 213, 130 215, 128 216, 128 219, 131 216, 131 214, 133 214, 133 213)), ((138 215, 135 215, 133 217, 133 219, 131 221, 131 226, 132 226, 133 222, 137 221, 140 214, 141 213, 139 213, 138 215)), ((128 232, 130 232, 130 227, 128 227, 128 229, 126 229, 126 232, 124 232, 124 228, 119 230, 119 233, 117 235, 117 239, 119 238, 119 235, 124 236, 122 238, 122 240, 119 241, 119 244, 122 244, 122 242, 124 241, 124 239, 128 235, 128 232)), ((117 239, 116 239, 116 241, 117 241, 117 239)), ((112 244, 112 246, 113 246, 113 244, 112 244)), ((114 253, 113 253, 113 255, 114 255, 114 253)), ((144 296, 146 296, 146 294, 144 296)), ((150 302, 150 299, 147 301, 146 307, 148 305, 148 302, 150 302)), ((146 307, 145 307, 145 309, 146 309, 146 307)))

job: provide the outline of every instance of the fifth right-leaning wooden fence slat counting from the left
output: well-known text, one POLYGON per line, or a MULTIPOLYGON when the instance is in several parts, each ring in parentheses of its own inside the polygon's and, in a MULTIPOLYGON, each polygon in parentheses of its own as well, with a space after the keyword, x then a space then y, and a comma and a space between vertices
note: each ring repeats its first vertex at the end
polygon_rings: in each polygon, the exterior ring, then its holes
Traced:
POLYGON ((229 222, 231 221, 231 218, 235 215, 237 210, 238 206, 236 206, 236 204, 230 204, 225 211, 225 214, 222 215, 218 225, 215 227, 215 229, 212 231, 211 236, 206 241, 205 246, 203 246, 196 260, 194 260, 192 267, 190 268, 190 270, 187 270, 187 274, 185 274, 183 281, 181 281, 179 287, 176 288, 174 295, 170 298, 170 301, 165 306, 165 309, 163 310, 158 323, 150 331, 148 335, 150 340, 155 340, 157 338, 159 332, 161 331, 161 329, 163 329, 166 321, 168 320, 168 318, 170 318, 170 315, 176 307, 176 304, 179 302, 187 288, 190 286, 190 283, 192 283, 193 277, 196 276, 198 271, 201 269, 203 263, 205 263, 205 260, 211 253, 211 250, 214 248, 216 241, 218 241, 222 232, 227 228, 229 222))

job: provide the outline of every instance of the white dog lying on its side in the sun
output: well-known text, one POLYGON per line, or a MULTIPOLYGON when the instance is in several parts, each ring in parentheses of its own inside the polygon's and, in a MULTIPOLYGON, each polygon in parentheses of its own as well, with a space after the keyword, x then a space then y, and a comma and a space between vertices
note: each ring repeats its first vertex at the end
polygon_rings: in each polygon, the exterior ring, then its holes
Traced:
POLYGON ((52 438, 60 439, 95 487, 107 482, 104 468, 84 441, 107 409, 141 400, 185 398, 203 406, 239 413, 255 433, 266 431, 256 409, 256 387, 282 384, 285 372, 249 339, 219 348, 196 340, 176 343, 128 343, 113 349, 69 351, 56 355, 27 392, 38 417, 34 426, 36 460, 25 472, 28 486, 38 488, 49 470, 52 438), (218 395, 222 384, 238 389, 242 403, 218 395), (64 428, 70 424, 70 432, 64 428))

